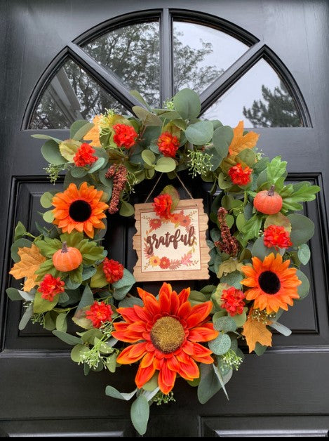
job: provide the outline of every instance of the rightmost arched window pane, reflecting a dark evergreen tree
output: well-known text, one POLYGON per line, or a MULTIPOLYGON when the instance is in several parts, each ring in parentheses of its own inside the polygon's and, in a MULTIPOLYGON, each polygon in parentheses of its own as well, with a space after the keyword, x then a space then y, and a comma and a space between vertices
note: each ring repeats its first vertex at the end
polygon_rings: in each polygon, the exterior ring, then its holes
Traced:
POLYGON ((245 127, 303 126, 285 84, 265 60, 248 70, 202 117, 233 127, 241 120, 245 127))

